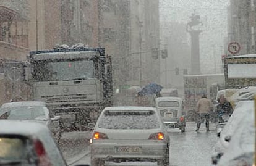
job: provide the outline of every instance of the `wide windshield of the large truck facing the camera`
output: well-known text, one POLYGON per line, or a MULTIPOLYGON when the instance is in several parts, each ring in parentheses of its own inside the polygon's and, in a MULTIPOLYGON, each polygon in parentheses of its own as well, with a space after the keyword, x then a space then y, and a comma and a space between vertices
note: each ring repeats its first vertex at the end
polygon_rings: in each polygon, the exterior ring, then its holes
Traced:
POLYGON ((62 62, 36 62, 33 68, 35 81, 85 80, 94 77, 93 60, 62 62))

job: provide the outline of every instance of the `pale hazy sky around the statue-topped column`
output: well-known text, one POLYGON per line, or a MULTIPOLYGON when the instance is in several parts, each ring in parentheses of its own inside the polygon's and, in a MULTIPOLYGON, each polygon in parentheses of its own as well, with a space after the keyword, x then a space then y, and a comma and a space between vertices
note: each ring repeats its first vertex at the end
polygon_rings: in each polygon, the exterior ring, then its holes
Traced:
MULTIPOLYGON (((224 38, 227 36, 228 4, 229 0, 160 0, 160 22, 168 20, 187 23, 194 10, 196 14, 200 14, 203 22, 203 32, 200 34, 201 70, 204 68, 202 72, 220 73, 221 54, 226 47, 224 38), (214 60, 216 65, 212 65, 214 60)), ((188 38, 190 39, 189 35, 188 38)))

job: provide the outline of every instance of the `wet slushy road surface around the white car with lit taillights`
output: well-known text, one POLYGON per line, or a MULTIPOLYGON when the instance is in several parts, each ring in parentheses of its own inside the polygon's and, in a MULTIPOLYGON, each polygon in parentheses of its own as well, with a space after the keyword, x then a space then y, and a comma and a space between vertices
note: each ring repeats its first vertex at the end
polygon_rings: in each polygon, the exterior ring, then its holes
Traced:
MULTIPOLYGON (((188 122, 186 132, 181 133, 179 129, 169 129, 168 133, 171 137, 170 147, 170 165, 191 165, 191 166, 207 166, 211 165, 211 154, 218 138, 216 137, 215 124, 210 123, 210 132, 207 133, 205 125, 202 124, 199 132, 195 132, 195 122, 188 122)), ((90 138, 90 133, 80 133, 80 139, 90 138), (81 136, 84 135, 84 136, 81 136)), ((74 133, 75 135, 75 133, 74 133)), ((76 136, 70 136, 76 138, 76 136)), ((63 147, 62 150, 69 165, 75 164, 90 164, 90 147, 87 141, 79 141, 74 148, 63 147), (76 149, 77 148, 77 149, 76 149), (73 150, 72 150, 73 149, 73 150), (71 152, 69 152, 71 151, 71 152), (74 154, 74 155, 70 155, 74 154)), ((150 162, 128 162, 128 163, 113 163, 106 162, 105 165, 157 165, 150 162)))

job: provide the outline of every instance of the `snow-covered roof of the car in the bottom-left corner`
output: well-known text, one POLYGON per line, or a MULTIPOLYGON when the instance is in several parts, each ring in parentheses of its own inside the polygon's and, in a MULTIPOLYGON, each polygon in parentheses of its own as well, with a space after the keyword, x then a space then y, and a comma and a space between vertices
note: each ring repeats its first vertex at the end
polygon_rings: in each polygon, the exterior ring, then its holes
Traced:
POLYGON ((0 120, 0 126, 0 134, 16 134, 23 136, 40 136, 50 134, 45 125, 36 122, 0 120))

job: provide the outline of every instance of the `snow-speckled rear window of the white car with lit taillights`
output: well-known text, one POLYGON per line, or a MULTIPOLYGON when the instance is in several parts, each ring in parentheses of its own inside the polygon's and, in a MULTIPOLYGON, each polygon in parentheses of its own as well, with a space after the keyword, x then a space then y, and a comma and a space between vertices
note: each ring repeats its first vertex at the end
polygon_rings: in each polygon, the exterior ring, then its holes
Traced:
POLYGON ((151 111, 106 111, 100 118, 99 128, 106 129, 153 129, 160 128, 155 112, 151 111))

